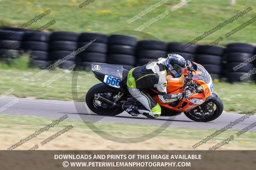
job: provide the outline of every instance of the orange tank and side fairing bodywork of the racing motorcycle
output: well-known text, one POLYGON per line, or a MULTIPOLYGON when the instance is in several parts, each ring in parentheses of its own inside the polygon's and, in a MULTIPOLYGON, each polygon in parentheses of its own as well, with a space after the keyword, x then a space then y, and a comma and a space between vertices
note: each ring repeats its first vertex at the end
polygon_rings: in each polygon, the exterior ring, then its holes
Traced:
MULTIPOLYGON (((202 72, 201 71, 197 71, 196 74, 200 75, 200 74, 202 74, 202 72)), ((184 71, 183 75, 180 78, 172 78, 172 76, 170 76, 170 75, 166 76, 167 83, 168 83, 167 87, 166 87, 167 88, 167 93, 168 94, 177 94, 179 92, 183 92, 184 89, 182 87, 184 85, 184 76, 186 76, 186 75, 187 75, 187 71, 184 71)), ((193 96, 192 96, 192 93, 191 93, 191 95, 190 95, 190 97, 188 99, 186 99, 186 100, 185 99, 181 99, 180 100, 181 102, 177 106, 175 106, 175 107, 171 107, 169 105, 170 103, 163 103, 163 102, 161 102, 159 100, 158 95, 154 96, 153 99, 159 105, 161 105, 163 107, 166 107, 166 108, 169 108, 169 109, 172 109, 172 110, 175 110, 175 111, 178 111, 178 112, 183 112, 183 111, 187 111, 187 110, 189 110, 191 108, 194 108, 194 107, 196 107, 196 106, 201 104, 201 103, 200 104, 195 103, 195 100, 197 100, 197 102, 202 102, 203 103, 205 101, 205 99, 208 96, 211 95, 211 93, 208 92, 209 91, 209 89, 207 89, 208 86, 205 84, 204 81, 202 81, 202 80, 193 80, 193 81, 196 82, 197 85, 201 85, 202 86, 203 92, 202 93, 195 93, 195 94, 193 94, 193 96), (192 96, 192 98, 191 98, 191 96, 192 96), (186 102, 187 104, 184 103, 184 102, 186 102), (183 104, 184 105, 186 104, 186 105, 184 106, 183 104), (181 108, 181 106, 183 106, 183 107, 181 108)), ((153 90, 153 91, 155 91, 155 90, 153 90)))

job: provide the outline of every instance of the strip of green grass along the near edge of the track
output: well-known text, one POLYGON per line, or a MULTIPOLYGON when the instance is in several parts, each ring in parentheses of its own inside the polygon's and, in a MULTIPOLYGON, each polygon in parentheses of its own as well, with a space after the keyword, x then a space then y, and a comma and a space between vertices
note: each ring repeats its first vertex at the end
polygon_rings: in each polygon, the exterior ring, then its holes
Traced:
MULTIPOLYGON (((51 121, 56 119, 48 119, 48 118, 40 118, 34 116, 12 116, 12 115, 0 115, 0 133, 5 133, 5 130, 21 130, 16 128, 22 126, 22 131, 26 132, 28 135, 34 133, 36 130, 43 128, 44 126, 48 125, 51 121), (15 126, 12 126, 15 125, 15 126)), ((97 134, 93 133, 91 129, 85 125, 83 121, 78 120, 64 120, 60 122, 58 125, 55 125, 53 128, 50 128, 48 132, 44 133, 56 133, 58 130, 67 127, 68 125, 72 124, 74 127, 69 132, 71 133, 83 133, 83 134, 90 134, 90 136, 97 136, 97 134), (57 129, 56 129, 57 128, 57 129)), ((159 128, 159 126, 148 126, 148 125, 139 125, 139 124, 125 124, 125 123, 103 123, 103 122, 96 122, 94 125, 102 130, 103 132, 115 136, 115 137, 125 137, 125 138, 132 138, 132 137, 140 137, 146 134, 151 133, 152 131, 159 128)), ((192 145, 194 145, 195 141, 199 142, 203 140, 205 137, 213 134, 216 129, 192 129, 192 128, 176 128, 176 127, 168 127, 166 128, 161 134, 157 135, 153 138, 153 140, 185 140, 188 141, 188 148, 192 149, 192 145), (191 143, 189 143, 191 141, 191 143)), ((214 137, 206 144, 203 144, 205 147, 211 147, 215 143, 220 143, 221 141, 225 140, 226 138, 233 135, 235 137, 231 143, 236 144, 237 148, 239 147, 253 147, 255 148, 256 142, 256 132, 250 131, 244 133, 243 135, 236 137, 236 130, 226 130, 225 132, 221 133, 220 135, 214 137)), ((18 137, 22 138, 22 137, 18 137)), ((67 139, 68 140, 68 139, 67 139)), ((128 140, 128 139, 127 139, 128 140)), ((198 149, 198 148, 197 148, 198 149)), ((251 148, 252 149, 252 148, 251 148)))

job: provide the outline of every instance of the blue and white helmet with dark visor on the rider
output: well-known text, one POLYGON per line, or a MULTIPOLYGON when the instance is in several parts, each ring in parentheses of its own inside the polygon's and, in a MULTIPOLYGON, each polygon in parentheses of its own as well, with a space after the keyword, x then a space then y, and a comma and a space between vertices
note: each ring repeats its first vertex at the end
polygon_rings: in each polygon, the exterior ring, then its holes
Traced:
POLYGON ((179 78, 186 68, 186 61, 178 54, 168 54, 165 60, 165 66, 173 77, 179 78))

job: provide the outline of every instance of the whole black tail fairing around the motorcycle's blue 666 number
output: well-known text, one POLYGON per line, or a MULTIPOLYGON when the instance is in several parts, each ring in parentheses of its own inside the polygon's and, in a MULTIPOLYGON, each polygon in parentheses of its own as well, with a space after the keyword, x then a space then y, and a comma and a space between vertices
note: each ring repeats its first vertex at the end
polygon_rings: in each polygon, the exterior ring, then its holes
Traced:
POLYGON ((122 79, 122 81, 119 84, 120 88, 117 88, 117 87, 113 87, 113 88, 119 89, 120 92, 128 93, 126 81, 127 81, 127 75, 129 71, 123 69, 122 65, 92 63, 91 69, 95 77, 103 83, 105 83, 104 82, 105 75, 122 79))

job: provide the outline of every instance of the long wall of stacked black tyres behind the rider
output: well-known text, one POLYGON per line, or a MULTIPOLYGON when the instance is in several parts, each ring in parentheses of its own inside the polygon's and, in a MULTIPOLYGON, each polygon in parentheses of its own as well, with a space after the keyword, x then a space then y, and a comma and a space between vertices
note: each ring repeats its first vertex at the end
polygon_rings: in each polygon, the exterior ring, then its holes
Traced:
MULTIPOLYGON (((174 53, 183 56, 185 60, 203 65, 213 79, 226 78, 228 82, 239 82, 246 73, 251 71, 253 74, 256 71, 254 69, 256 57, 254 60, 249 60, 256 54, 256 48, 246 43, 231 43, 226 48, 212 46, 206 49, 205 45, 191 45, 182 49, 181 47, 186 43, 138 41, 131 36, 108 36, 101 33, 79 34, 56 31, 32 34, 34 30, 23 29, 11 36, 6 36, 14 29, 5 27, 0 30, 0 37, 4 37, 0 41, 0 61, 2 62, 12 62, 25 52, 30 56, 31 67, 44 69, 93 41, 84 51, 69 58, 58 67, 69 68, 76 64, 76 68, 90 70, 92 63, 108 63, 123 65, 124 69, 130 70, 174 53), (241 63, 244 65, 241 66, 241 63), (237 67, 239 64, 240 66, 237 67)), ((242 79, 256 80, 256 76, 253 74, 242 79)))

